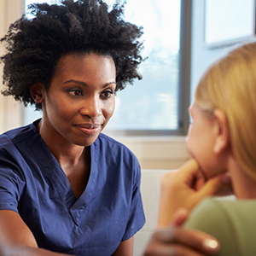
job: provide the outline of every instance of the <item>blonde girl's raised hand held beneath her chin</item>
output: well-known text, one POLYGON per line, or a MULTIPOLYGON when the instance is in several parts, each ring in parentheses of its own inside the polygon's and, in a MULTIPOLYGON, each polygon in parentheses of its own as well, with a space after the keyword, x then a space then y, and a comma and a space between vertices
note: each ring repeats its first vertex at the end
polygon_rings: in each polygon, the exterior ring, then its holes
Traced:
POLYGON ((168 226, 178 208, 190 212, 205 197, 230 186, 230 178, 225 174, 206 180, 197 162, 189 160, 177 172, 162 177, 158 226, 168 226))

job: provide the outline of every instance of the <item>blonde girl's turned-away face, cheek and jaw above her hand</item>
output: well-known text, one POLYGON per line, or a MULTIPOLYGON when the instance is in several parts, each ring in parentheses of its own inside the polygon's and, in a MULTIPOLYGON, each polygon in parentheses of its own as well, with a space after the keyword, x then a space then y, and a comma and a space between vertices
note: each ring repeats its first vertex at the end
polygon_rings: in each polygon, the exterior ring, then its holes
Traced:
POLYGON ((199 108, 196 103, 189 108, 192 123, 189 126, 187 149, 206 177, 213 177, 223 172, 219 166, 218 155, 214 153, 216 123, 214 118, 199 108))

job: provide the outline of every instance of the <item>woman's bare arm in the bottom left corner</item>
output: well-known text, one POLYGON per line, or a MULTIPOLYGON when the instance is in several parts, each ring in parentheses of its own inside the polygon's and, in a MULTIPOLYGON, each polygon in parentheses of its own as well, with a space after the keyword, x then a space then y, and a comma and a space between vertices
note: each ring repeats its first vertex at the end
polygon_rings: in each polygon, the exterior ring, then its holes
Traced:
POLYGON ((67 255, 53 253, 38 248, 32 231, 26 226, 17 212, 0 211, 0 255, 1 256, 57 256, 67 255))

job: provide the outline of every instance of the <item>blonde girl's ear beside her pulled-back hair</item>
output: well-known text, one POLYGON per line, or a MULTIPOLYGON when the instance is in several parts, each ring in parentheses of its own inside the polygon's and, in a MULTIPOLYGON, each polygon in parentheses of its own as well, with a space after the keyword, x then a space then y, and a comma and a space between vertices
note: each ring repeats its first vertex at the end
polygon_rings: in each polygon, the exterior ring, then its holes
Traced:
POLYGON ((220 109, 215 109, 213 111, 213 116, 216 125, 216 137, 214 142, 213 151, 216 154, 220 154, 225 148, 228 148, 230 143, 230 133, 228 122, 223 111, 220 109))

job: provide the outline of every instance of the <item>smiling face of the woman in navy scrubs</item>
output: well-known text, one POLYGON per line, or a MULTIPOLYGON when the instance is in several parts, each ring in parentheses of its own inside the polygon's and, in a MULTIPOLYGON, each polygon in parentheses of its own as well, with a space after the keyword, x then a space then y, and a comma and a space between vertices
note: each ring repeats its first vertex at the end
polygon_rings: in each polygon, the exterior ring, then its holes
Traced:
POLYGON ((49 90, 43 90, 40 133, 42 128, 44 135, 63 143, 94 143, 113 115, 115 78, 110 56, 61 57, 49 90))

